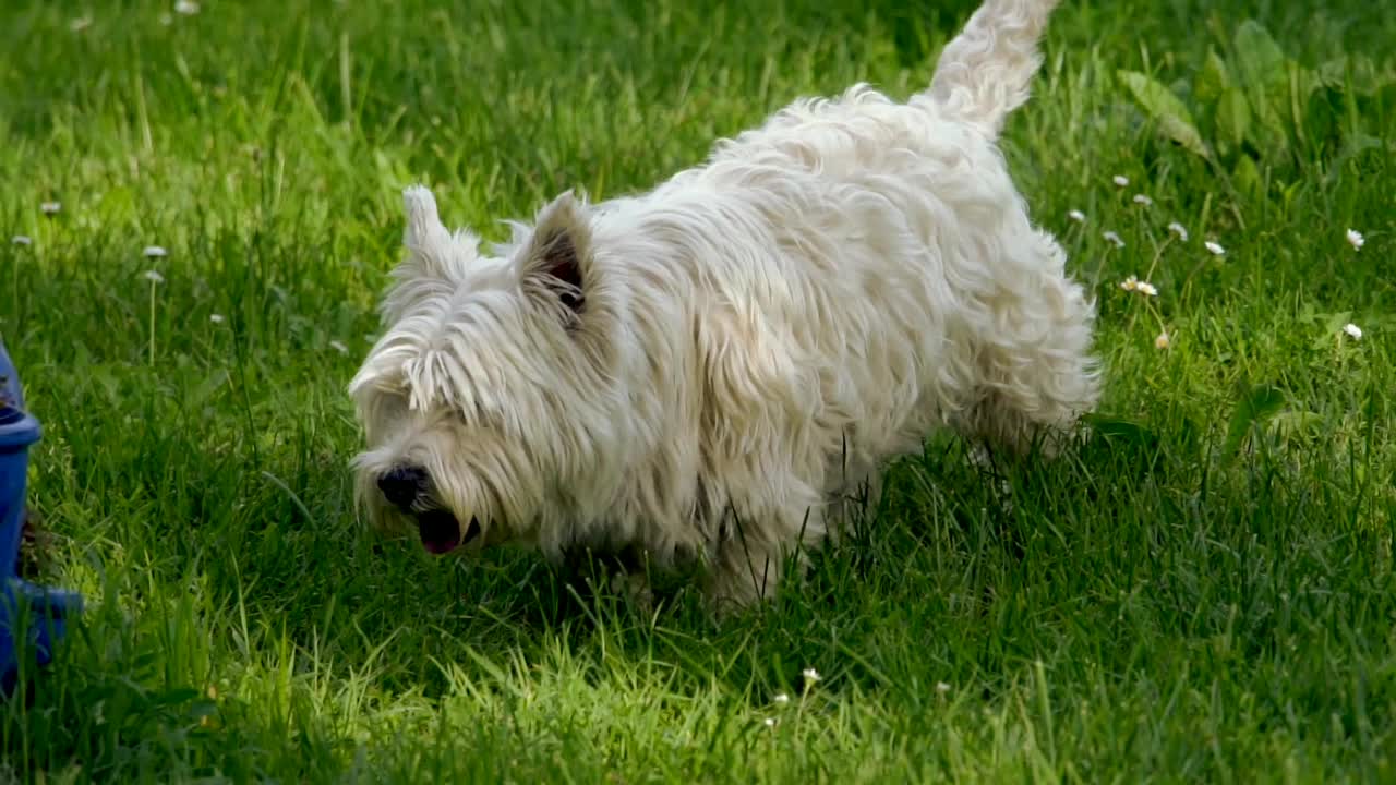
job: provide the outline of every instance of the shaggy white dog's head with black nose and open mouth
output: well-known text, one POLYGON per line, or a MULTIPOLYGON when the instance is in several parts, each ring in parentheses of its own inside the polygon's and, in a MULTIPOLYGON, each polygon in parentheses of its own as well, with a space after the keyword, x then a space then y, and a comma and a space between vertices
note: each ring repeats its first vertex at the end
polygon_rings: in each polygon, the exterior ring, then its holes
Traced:
POLYGON ((564 194, 486 256, 447 232, 429 190, 403 201, 384 334, 349 384, 367 441, 356 500, 433 553, 536 539, 604 464, 625 399, 618 293, 596 279, 588 208, 564 194))

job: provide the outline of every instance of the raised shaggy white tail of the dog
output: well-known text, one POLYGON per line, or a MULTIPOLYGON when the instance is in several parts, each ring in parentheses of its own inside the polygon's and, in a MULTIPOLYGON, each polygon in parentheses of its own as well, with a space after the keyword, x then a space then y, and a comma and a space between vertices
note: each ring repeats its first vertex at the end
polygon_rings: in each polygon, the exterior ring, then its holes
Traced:
POLYGON ((998 137, 1008 115, 1027 101, 1041 67, 1037 42, 1060 0, 984 0, 945 45, 930 96, 959 120, 998 137))

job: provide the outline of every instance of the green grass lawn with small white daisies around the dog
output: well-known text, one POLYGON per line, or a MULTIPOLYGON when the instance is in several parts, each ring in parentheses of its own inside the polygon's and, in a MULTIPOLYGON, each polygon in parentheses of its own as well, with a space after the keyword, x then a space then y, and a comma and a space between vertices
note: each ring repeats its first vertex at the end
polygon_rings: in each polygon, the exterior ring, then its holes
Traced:
POLYGON ((45 580, 89 610, 0 704, 0 781, 1396 778, 1381 3, 1065 3, 1005 147, 1099 298, 1118 436, 1000 478, 934 441, 804 587, 723 622, 355 520, 343 387, 401 187, 498 237, 797 95, 906 96, 973 4, 451 6, 92 3, 77 32, 77 7, 6 6, 0 233, 34 244, 0 246, 0 332, 46 429, 45 580))

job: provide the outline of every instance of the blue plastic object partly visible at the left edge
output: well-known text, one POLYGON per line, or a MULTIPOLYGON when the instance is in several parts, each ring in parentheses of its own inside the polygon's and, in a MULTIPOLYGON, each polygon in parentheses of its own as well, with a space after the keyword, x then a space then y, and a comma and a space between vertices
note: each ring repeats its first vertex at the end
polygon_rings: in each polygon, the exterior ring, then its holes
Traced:
POLYGON ((24 408, 20 374, 0 341, 0 691, 4 694, 18 676, 21 647, 34 652, 38 665, 47 665, 68 617, 82 609, 82 598, 77 594, 49 589, 15 575, 29 446, 39 436, 39 420, 24 408))

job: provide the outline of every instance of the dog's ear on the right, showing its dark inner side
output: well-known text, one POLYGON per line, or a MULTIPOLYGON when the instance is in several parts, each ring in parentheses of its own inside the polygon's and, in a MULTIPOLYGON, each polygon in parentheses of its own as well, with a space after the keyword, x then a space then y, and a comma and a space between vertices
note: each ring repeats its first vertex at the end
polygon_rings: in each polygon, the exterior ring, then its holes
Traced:
POLYGON ((586 311, 591 254, 585 207, 571 191, 564 193, 539 212, 524 249, 525 292, 561 305, 575 324, 586 311))

